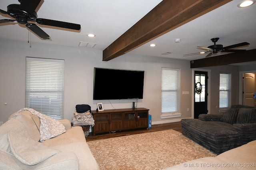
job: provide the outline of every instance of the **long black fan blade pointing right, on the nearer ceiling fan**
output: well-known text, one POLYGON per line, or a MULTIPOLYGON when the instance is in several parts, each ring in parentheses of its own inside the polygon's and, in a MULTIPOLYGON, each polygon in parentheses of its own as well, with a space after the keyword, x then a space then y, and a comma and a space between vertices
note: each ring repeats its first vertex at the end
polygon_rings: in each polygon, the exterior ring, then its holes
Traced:
POLYGON ((68 29, 75 29, 75 30, 79 30, 81 28, 80 24, 48 20, 48 19, 44 19, 44 18, 38 18, 38 19, 36 19, 36 22, 39 24, 42 24, 42 25, 50 25, 50 26, 54 26, 54 27, 61 27, 61 28, 68 28, 68 29))

